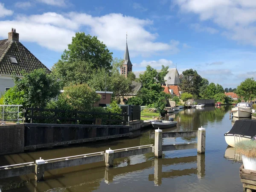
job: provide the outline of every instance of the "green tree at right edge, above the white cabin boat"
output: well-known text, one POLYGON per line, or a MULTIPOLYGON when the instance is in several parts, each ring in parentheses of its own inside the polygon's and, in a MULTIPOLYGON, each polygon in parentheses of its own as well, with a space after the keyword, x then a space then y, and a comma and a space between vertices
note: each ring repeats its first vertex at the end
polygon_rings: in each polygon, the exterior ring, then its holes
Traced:
POLYGON ((256 96, 256 81, 253 78, 247 78, 239 86, 236 93, 244 99, 251 101, 256 96))

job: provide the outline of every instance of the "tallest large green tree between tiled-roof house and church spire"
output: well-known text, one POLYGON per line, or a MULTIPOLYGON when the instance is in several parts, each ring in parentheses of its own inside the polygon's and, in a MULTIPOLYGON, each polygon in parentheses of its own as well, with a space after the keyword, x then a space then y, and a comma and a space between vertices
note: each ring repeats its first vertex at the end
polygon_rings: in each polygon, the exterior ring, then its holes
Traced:
POLYGON ((112 54, 97 37, 77 32, 68 44, 68 50, 64 50, 61 59, 52 67, 52 72, 65 86, 87 83, 94 70, 111 69, 112 54))

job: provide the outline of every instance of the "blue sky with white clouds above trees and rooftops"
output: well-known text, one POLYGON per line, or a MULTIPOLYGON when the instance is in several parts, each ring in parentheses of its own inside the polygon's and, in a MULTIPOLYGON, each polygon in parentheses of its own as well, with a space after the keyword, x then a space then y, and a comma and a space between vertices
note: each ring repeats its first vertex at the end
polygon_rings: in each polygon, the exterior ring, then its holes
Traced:
POLYGON ((256 0, 0 0, 0 39, 20 42, 49 69, 76 32, 97 36, 133 70, 193 69, 236 87, 256 78, 256 0))

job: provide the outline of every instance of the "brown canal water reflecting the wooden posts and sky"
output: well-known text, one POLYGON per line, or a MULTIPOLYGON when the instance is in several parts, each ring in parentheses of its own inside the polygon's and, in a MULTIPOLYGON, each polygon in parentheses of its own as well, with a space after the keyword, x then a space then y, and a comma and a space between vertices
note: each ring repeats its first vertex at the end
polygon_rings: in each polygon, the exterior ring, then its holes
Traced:
MULTIPOLYGON (((105 163, 57 169, 45 172, 45 181, 35 182, 34 175, 0 180, 2 191, 8 192, 241 192, 240 157, 228 148, 224 133, 232 128, 231 106, 185 109, 172 113, 177 127, 163 131, 197 131, 206 128, 206 151, 196 149, 165 151, 162 159, 144 154, 116 159, 114 167, 105 163), (16 189, 13 189, 16 188, 16 189), (8 190, 7 190, 8 189, 8 190)), ((146 128, 134 138, 105 140, 82 145, 32 151, 0 157, 0 165, 31 162, 42 157, 51 159, 138 145, 154 144, 146 128)), ((196 141, 196 138, 168 138, 164 143, 196 141)))

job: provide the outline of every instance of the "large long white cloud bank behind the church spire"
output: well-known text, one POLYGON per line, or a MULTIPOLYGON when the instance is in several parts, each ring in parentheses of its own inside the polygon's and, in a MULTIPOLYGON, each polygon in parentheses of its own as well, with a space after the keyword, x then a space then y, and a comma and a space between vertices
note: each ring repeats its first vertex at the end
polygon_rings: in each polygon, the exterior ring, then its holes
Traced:
POLYGON ((57 14, 47 12, 42 15, 18 15, 15 20, 0 21, 0 36, 7 37, 12 27, 20 33, 20 41, 35 42, 42 47, 62 52, 71 43, 75 32, 86 29, 96 35, 108 48, 125 49, 125 34, 128 32, 130 55, 152 55, 161 52, 177 53, 178 41, 169 44, 157 41, 158 34, 145 28, 152 26, 152 20, 143 20, 122 14, 108 14, 93 17, 84 13, 69 12, 57 14))

